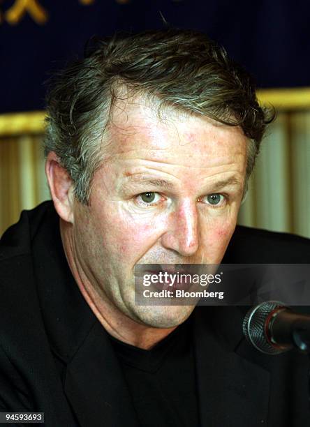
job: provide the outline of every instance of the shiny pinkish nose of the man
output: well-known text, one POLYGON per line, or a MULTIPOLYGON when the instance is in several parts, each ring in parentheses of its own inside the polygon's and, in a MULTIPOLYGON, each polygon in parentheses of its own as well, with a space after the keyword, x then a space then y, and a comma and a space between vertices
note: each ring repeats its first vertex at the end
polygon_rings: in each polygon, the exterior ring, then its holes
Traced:
POLYGON ((198 210, 193 200, 183 200, 170 213, 168 230, 161 238, 161 244, 175 250, 184 257, 194 255, 199 248, 198 210))

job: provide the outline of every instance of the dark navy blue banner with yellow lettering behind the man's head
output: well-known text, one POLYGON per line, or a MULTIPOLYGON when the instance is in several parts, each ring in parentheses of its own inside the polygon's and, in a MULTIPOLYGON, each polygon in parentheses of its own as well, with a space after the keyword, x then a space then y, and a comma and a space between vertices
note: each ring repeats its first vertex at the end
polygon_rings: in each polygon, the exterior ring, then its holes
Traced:
POLYGON ((163 20, 205 31, 259 87, 310 86, 307 1, 2 0, 0 112, 43 109, 45 80, 91 36, 163 28, 163 20))

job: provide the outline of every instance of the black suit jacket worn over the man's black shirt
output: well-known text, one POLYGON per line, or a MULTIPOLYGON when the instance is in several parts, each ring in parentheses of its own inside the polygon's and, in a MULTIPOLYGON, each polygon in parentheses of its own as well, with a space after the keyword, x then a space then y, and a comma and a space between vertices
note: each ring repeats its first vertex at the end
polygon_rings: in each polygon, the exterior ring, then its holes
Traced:
MULTIPOLYGON (((307 239, 246 227, 225 258, 309 260, 307 239)), ((107 333, 68 269, 51 202, 24 211, 3 235, 0 271, 0 411, 45 412, 46 427, 138 426, 107 333)), ((307 356, 253 349, 240 308, 201 306, 192 315, 202 427, 310 424, 307 356)))

